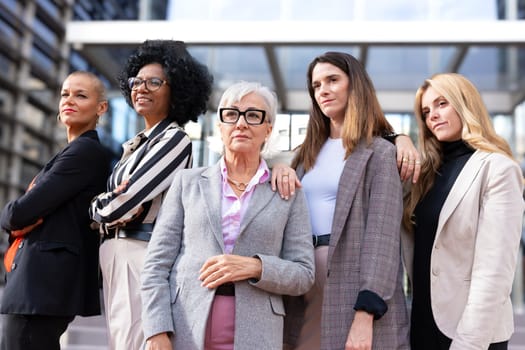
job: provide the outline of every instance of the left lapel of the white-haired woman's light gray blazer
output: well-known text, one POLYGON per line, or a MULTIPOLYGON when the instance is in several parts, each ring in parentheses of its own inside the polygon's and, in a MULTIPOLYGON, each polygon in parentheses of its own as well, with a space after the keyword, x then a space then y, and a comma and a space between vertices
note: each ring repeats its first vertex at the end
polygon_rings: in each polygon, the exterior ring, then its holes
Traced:
MULTIPOLYGON (((202 202, 204 203, 205 215, 210 221, 213 235, 224 251, 224 239, 222 237, 222 177, 219 164, 216 164, 202 172, 199 180, 202 202)), ((198 215, 198 214, 197 214, 198 215)))

